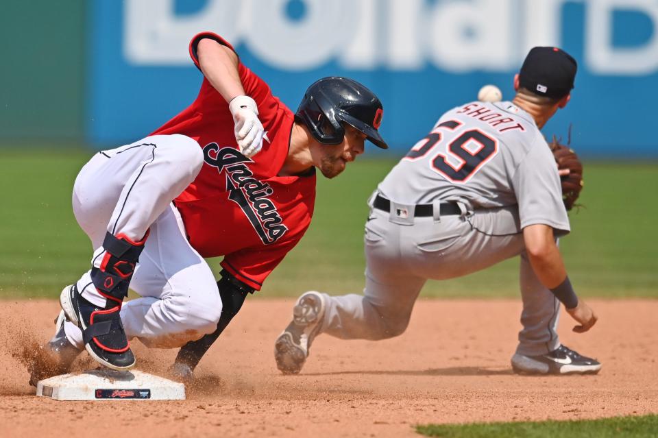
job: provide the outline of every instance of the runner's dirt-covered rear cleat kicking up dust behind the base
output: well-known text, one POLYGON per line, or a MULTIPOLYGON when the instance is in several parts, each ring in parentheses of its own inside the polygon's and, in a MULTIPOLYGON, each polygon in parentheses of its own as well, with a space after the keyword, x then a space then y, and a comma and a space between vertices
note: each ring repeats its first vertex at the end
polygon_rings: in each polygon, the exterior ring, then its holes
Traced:
POLYGON ((53 338, 32 358, 28 367, 29 384, 36 387, 39 380, 66 374, 71 369, 75 358, 82 352, 75 347, 64 333, 64 311, 55 319, 55 334, 53 338))

